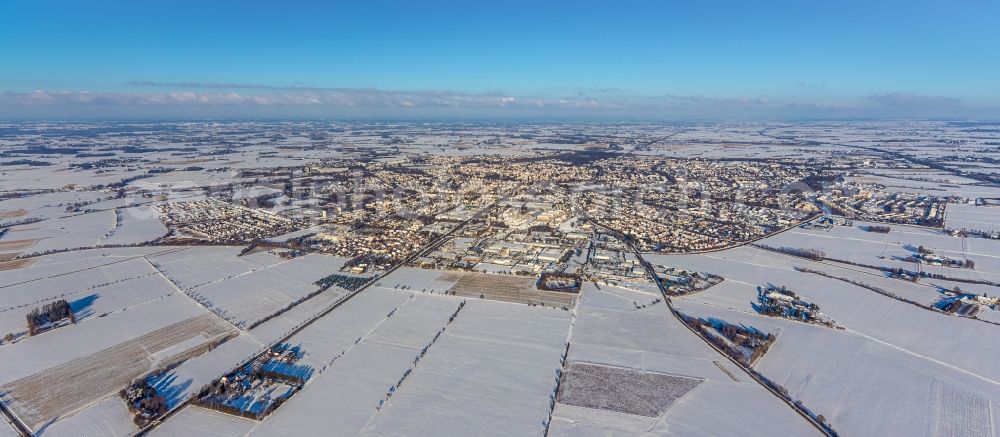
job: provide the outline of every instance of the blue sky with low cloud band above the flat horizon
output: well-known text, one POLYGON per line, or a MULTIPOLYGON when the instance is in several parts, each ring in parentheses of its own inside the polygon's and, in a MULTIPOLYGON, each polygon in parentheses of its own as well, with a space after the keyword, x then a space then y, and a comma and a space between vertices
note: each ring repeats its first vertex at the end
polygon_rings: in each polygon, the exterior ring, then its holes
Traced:
POLYGON ((1000 2, 0 2, 0 117, 1000 117, 1000 2))

